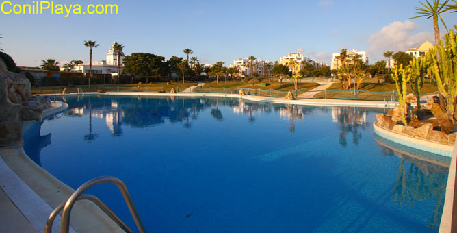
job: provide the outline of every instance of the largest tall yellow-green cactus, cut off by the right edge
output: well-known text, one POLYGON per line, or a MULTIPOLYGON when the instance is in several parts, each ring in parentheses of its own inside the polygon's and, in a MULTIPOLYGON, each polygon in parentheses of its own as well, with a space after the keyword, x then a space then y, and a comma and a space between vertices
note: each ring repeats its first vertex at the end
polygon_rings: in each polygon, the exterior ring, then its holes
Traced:
MULTIPOLYGON (((457 29, 457 25, 454 26, 457 29)), ((446 98, 447 118, 454 119, 454 99, 457 96, 457 38, 453 30, 444 36, 428 53, 432 79, 439 93, 446 98), (439 58, 439 59, 438 59, 439 58)))

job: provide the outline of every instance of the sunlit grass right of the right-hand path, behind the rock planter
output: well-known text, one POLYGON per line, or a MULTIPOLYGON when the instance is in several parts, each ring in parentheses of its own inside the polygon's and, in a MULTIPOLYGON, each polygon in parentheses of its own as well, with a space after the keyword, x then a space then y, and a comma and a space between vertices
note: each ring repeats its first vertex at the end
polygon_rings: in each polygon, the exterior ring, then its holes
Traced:
MULTIPOLYGON (((331 90, 344 90, 341 89, 339 83, 332 84, 330 88, 328 88, 327 97, 332 97, 332 98, 341 98, 341 99, 348 99, 348 98, 354 98, 354 92, 348 92, 345 90, 345 92, 333 92, 331 90), (330 91, 329 91, 330 90, 330 91)), ((397 88, 395 87, 395 84, 378 84, 378 83, 363 83, 361 84, 361 88, 359 90, 365 90, 365 91, 370 91, 370 92, 381 92, 381 91, 386 91, 386 92, 392 92, 392 91, 397 91, 397 88)), ((438 91, 436 86, 433 84, 424 84, 423 88, 421 90, 421 93, 435 93, 438 91)), ((408 93, 412 93, 408 86, 408 93)), ((324 98, 325 93, 322 91, 321 93, 318 93, 315 95, 315 98, 324 98)), ((396 96, 397 97, 397 94, 396 96)), ((376 100, 390 100, 392 98, 391 93, 367 93, 367 92, 359 92, 358 93, 358 99, 376 99, 376 100)))

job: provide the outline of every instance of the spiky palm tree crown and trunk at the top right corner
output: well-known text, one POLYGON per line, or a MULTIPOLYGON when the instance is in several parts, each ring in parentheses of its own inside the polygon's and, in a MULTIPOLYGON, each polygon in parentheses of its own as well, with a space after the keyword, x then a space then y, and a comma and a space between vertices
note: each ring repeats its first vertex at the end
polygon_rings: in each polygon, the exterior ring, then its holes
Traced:
POLYGON ((441 18, 441 14, 452 9, 447 6, 447 3, 450 0, 445 0, 443 4, 440 4, 439 1, 440 0, 433 0, 433 4, 430 4, 430 2, 428 2, 428 0, 426 0, 427 4, 419 1, 419 3, 421 3, 421 5, 423 5, 423 8, 416 7, 417 14, 419 14, 419 15, 410 18, 410 19, 415 19, 415 18, 419 18, 419 17, 426 17, 427 19, 433 18, 433 27, 434 27, 434 32, 435 32, 435 45, 438 45, 438 42, 439 42, 438 18, 441 20, 441 23, 443 23, 444 27, 447 30, 447 26, 444 23, 443 18, 441 18))

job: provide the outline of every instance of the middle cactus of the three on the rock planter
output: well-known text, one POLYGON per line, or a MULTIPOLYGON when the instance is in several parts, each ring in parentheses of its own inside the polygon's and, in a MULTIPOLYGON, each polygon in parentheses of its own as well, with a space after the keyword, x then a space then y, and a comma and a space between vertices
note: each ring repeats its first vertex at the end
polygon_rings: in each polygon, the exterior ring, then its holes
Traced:
POLYGON ((411 90, 413 90, 414 95, 417 99, 417 109, 421 109, 421 89, 423 87, 423 78, 427 75, 428 62, 427 58, 421 56, 419 58, 413 58, 406 67, 408 73, 411 75, 409 80, 409 85, 411 90))

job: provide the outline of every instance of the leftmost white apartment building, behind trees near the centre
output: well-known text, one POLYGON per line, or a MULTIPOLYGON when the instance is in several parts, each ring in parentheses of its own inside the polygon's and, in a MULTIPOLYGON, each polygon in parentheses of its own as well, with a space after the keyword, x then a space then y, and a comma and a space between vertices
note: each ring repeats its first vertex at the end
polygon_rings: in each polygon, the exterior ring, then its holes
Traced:
POLYGON ((269 65, 268 76, 272 76, 273 62, 256 59, 252 61, 252 69, 250 69, 250 64, 251 62, 248 58, 238 58, 237 60, 233 60, 233 64, 230 64, 230 67, 237 67, 241 77, 250 77, 253 73, 258 73, 262 76, 267 75, 267 65, 269 65), (252 74, 250 73, 251 70, 252 74))

